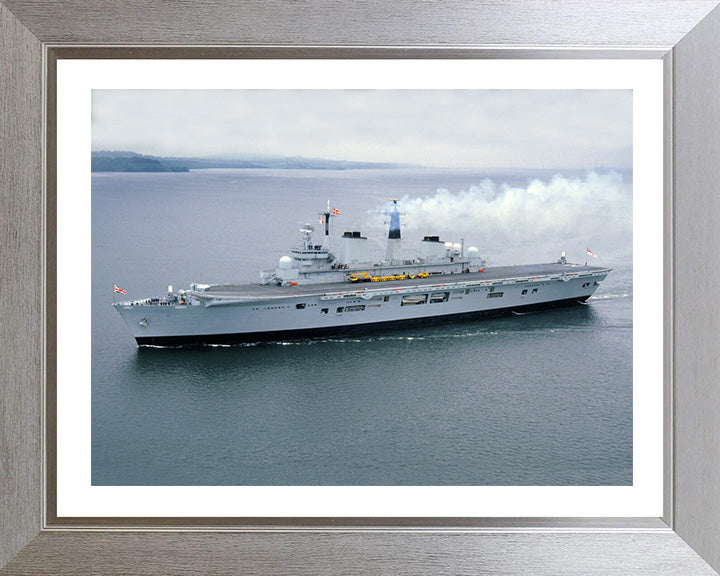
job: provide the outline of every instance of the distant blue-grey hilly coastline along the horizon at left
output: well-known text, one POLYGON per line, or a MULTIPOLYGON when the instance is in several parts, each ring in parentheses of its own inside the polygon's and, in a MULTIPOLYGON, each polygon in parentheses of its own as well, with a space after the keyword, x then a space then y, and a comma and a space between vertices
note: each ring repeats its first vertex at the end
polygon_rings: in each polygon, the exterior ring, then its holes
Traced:
POLYGON ((285 170, 379 170, 417 167, 386 162, 351 162, 302 156, 238 156, 178 158, 147 156, 127 151, 92 152, 93 172, 188 172, 203 168, 275 168, 285 170))

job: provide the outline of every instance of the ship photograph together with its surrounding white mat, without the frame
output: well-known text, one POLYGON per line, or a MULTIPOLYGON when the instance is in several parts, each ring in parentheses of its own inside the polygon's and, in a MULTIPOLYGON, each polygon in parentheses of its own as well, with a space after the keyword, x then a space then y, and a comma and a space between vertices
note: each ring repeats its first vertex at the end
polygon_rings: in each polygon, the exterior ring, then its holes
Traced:
POLYGON ((58 522, 659 517, 662 91, 651 60, 59 60, 49 403, 92 409, 58 411, 58 522))

